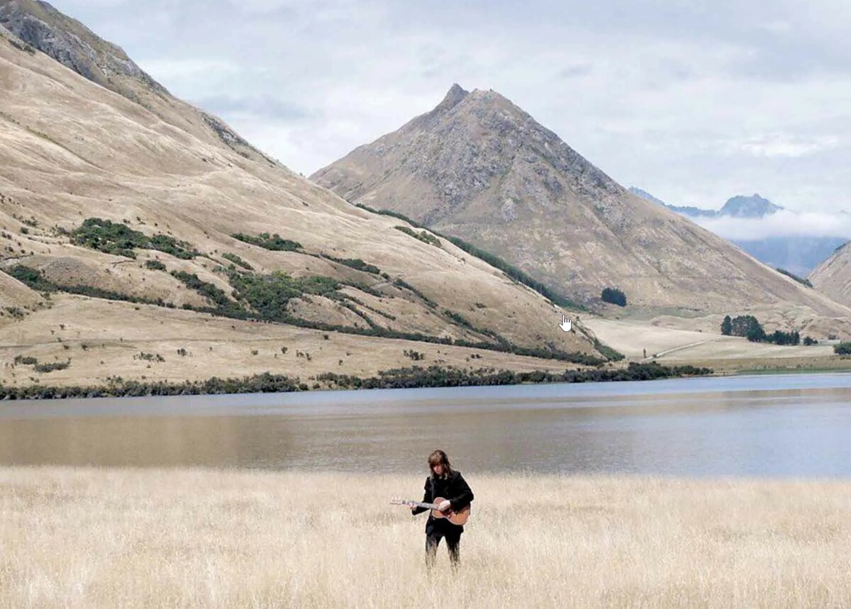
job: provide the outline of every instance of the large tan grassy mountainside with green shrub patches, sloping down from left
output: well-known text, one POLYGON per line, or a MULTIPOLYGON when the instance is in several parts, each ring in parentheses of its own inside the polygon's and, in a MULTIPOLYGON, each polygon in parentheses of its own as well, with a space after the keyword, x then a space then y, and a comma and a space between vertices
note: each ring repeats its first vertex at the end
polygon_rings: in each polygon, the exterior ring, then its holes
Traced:
POLYGON ((600 356, 540 293, 271 162, 48 3, 0 23, 0 383, 600 356))

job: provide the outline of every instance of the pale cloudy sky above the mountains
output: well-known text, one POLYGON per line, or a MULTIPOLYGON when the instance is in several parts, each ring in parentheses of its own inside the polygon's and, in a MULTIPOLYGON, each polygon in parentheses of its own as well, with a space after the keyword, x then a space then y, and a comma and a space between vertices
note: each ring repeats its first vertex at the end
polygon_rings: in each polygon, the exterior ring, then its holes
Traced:
POLYGON ((306 175, 460 83, 665 202, 851 211, 847 0, 53 3, 306 175))

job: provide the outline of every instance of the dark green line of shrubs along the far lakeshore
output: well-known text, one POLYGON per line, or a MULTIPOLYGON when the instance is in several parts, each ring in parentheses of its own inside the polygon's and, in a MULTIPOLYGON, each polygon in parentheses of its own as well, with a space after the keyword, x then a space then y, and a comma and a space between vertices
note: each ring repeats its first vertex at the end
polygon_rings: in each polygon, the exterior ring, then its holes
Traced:
POLYGON ((662 366, 656 362, 631 362, 618 369, 512 372, 491 368, 460 370, 451 367, 408 367, 380 372, 378 376, 361 378, 345 374, 322 373, 312 386, 281 374, 262 373, 243 378, 209 378, 185 383, 117 381, 100 386, 49 387, 0 385, 0 400, 45 400, 72 397, 129 396, 200 396, 237 393, 286 393, 311 389, 414 389, 425 387, 468 387, 476 385, 508 385, 538 383, 597 383, 609 381, 652 380, 683 376, 704 376, 712 370, 694 366, 662 366))

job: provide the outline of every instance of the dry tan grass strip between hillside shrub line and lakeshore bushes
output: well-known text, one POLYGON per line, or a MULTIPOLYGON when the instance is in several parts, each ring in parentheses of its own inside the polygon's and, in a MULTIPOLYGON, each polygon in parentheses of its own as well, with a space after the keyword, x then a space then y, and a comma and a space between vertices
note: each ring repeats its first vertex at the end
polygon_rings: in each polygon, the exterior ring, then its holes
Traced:
POLYGON ((104 385, 115 376, 180 383, 270 372, 298 377, 312 386, 319 373, 370 377, 414 364, 517 371, 581 367, 499 351, 243 322, 80 296, 57 295, 53 302, 52 308, 23 320, 0 322, 0 384, 104 385), (179 349, 187 355, 179 356, 179 349), (423 359, 411 360, 403 355, 406 350, 418 351, 423 359), (165 361, 140 359, 140 352, 163 356, 165 361), (16 356, 42 362, 71 360, 71 366, 39 374, 31 366, 15 365, 16 356))

